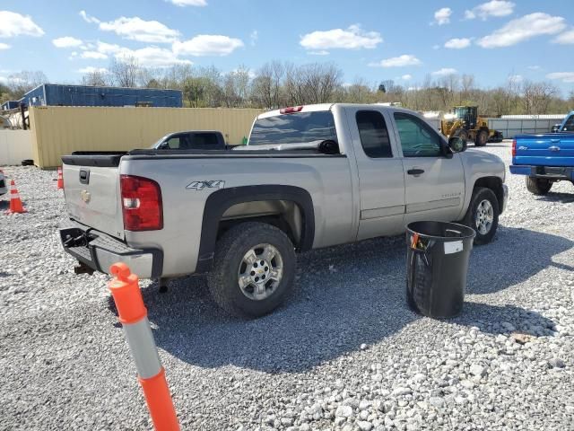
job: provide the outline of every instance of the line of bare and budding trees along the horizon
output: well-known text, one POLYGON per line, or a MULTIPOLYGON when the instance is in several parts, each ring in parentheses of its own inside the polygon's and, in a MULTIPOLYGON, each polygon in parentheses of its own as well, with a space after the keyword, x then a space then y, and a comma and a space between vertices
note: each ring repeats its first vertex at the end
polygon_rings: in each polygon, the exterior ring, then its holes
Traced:
MULTIPOLYGON (((48 82, 42 72, 21 72, 0 84, 0 100, 18 100, 38 84, 48 82)), ((135 58, 112 60, 106 70, 83 75, 81 84, 177 89, 184 105, 272 110, 283 106, 323 102, 398 102, 412 110, 450 110, 454 105, 477 105, 482 115, 565 113, 574 109, 574 91, 567 98, 548 82, 509 75, 506 83, 481 88, 474 75, 427 75, 422 83, 399 84, 392 79, 370 83, 356 78, 344 82, 334 63, 295 65, 278 60, 257 70, 239 66, 222 73, 215 66, 177 65, 151 68, 135 58)))

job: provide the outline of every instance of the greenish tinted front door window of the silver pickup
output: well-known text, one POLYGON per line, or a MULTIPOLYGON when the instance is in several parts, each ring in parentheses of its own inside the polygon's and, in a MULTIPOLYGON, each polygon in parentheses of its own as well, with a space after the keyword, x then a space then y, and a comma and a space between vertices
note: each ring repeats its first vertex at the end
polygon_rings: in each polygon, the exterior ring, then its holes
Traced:
POLYGON ((395 112, 395 123, 404 157, 438 157, 440 137, 426 121, 404 112, 395 112))

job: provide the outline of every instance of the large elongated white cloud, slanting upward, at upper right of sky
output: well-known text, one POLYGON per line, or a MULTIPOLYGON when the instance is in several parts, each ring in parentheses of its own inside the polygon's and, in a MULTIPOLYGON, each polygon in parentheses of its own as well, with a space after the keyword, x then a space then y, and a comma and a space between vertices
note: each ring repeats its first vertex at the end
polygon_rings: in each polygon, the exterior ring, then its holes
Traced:
POLYGON ((478 40, 483 48, 510 47, 544 34, 556 34, 566 28, 564 18, 536 12, 512 20, 499 30, 478 40))

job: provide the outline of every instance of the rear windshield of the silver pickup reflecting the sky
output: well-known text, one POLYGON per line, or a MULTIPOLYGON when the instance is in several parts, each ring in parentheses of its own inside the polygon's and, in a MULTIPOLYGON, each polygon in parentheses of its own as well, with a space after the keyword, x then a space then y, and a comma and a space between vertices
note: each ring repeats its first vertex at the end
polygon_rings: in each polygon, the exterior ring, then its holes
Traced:
POLYGON ((249 145, 301 144, 336 138, 333 113, 318 110, 257 119, 249 145))

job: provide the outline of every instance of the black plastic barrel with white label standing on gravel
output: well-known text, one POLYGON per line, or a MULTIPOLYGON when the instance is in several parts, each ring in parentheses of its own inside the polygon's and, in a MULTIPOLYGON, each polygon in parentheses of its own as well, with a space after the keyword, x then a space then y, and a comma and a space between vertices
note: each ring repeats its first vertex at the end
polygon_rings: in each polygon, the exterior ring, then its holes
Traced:
POLYGON ((406 226, 406 298, 413 311, 433 318, 462 311, 475 235, 470 227, 455 223, 406 226))

